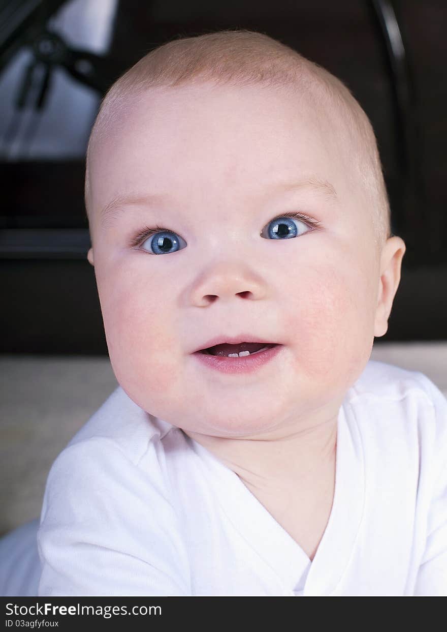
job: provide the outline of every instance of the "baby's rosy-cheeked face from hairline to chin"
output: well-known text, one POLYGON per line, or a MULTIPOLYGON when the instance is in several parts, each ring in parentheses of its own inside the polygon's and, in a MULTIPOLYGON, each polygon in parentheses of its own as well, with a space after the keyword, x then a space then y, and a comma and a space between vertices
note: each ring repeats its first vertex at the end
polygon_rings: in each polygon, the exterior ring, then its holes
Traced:
POLYGON ((382 332, 371 210, 334 121, 278 89, 207 84, 151 90, 110 125, 92 156, 89 259, 124 391, 222 437, 335 414, 382 332), (277 221, 291 212, 319 226, 277 221), (253 372, 193 353, 247 333, 282 345, 253 372))

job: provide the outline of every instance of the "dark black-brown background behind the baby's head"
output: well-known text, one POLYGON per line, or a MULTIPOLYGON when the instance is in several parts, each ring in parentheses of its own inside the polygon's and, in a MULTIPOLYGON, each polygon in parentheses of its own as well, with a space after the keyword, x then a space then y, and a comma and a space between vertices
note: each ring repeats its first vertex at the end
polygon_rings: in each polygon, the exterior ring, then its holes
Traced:
MULTIPOLYGON (((35 42, 42 42, 45 28, 67 4, 0 2, 3 73, 9 68, 11 74, 11 64, 23 49, 35 50, 35 42)), ((393 233, 407 244, 390 326, 375 344, 443 340, 447 322, 446 22, 447 4, 441 0, 125 0, 116 4, 107 51, 100 55, 90 51, 89 56, 88 49, 77 47, 76 55, 70 56, 76 47, 65 40, 68 52, 61 54, 59 49, 59 58, 47 58, 47 66, 65 73, 73 85, 82 84, 99 102, 119 75, 169 39, 248 28, 282 41, 327 68, 352 90, 371 119, 390 195, 393 233)), ((52 30, 57 33, 55 24, 52 30)), ((42 55, 39 59, 45 68, 42 55)), ((70 156, 65 147, 62 157, 50 151, 33 157, 31 150, 23 150, 25 138, 21 154, 11 155, 8 147, 12 147, 20 117, 32 107, 20 109, 18 103, 23 76, 20 69, 12 92, 0 83, 1 100, 13 104, 17 114, 4 116, 0 125, 4 141, 0 155, 4 332, 0 352, 105 355, 94 270, 86 260, 90 239, 83 201, 83 152, 95 111, 78 138, 77 154, 70 156)), ((50 107, 52 90, 49 82, 44 104, 37 108, 39 116, 45 116, 50 107)), ((73 125, 73 114, 64 118, 61 108, 57 125, 61 138, 73 125)), ((31 127, 30 143, 33 133, 31 127)))

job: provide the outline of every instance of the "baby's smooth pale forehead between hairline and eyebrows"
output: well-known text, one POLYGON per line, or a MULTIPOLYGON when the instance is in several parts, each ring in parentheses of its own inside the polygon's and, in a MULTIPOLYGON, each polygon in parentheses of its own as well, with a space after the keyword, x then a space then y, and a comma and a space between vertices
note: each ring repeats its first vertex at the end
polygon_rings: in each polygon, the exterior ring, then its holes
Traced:
POLYGON ((218 196, 231 189, 252 196, 269 183, 307 176, 337 191, 344 186, 340 126, 334 133, 333 122, 297 92, 153 88, 113 107, 104 112, 109 122, 91 160, 95 208, 141 190, 218 196))

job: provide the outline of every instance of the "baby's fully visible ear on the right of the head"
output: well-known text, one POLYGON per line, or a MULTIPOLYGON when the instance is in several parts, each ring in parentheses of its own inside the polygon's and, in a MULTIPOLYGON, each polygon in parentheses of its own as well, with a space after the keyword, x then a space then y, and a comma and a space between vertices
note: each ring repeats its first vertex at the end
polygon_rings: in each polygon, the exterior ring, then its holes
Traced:
POLYGON ((397 236, 390 237, 383 246, 374 336, 384 336, 388 331, 388 318, 400 283, 400 271, 405 250, 405 242, 397 236))

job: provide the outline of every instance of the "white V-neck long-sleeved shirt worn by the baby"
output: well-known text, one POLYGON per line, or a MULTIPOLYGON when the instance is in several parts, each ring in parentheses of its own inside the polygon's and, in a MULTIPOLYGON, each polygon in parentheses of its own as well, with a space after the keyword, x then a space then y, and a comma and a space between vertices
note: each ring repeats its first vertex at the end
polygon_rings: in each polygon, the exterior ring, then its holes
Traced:
POLYGON ((337 427, 313 561, 237 475, 110 395, 49 473, 41 595, 447 595, 447 401, 370 360, 337 427))

